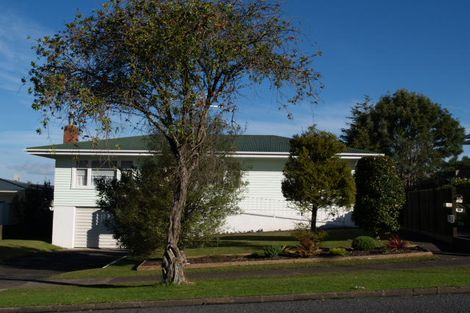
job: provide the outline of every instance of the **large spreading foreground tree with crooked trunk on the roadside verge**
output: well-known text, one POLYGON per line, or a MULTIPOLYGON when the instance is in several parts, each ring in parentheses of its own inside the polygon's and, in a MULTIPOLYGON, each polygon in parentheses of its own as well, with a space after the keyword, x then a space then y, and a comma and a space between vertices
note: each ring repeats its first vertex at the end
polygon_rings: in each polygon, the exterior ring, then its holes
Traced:
POLYGON ((113 0, 39 40, 30 70, 33 108, 51 118, 73 112, 78 126, 114 130, 141 119, 166 139, 176 162, 162 275, 184 283, 178 245, 189 183, 224 129, 246 84, 286 88, 280 106, 314 99, 318 74, 296 49, 297 32, 278 5, 242 0, 113 0), (215 108, 214 108, 215 107, 215 108))

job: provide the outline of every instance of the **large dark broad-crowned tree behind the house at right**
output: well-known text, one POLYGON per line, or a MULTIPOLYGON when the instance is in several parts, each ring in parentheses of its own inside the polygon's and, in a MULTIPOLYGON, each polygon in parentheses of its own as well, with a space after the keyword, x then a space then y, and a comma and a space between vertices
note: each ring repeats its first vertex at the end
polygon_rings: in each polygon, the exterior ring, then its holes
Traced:
POLYGON ((405 89, 352 109, 341 138, 353 148, 383 152, 398 164, 408 189, 462 152, 464 128, 428 97, 405 89))

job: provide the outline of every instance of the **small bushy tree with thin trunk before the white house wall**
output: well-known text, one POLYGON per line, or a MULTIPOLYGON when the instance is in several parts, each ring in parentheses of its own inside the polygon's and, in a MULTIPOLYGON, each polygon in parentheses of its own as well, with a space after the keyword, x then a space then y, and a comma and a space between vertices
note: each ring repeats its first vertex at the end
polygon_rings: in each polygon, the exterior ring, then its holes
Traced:
POLYGON ((335 135, 314 127, 290 141, 282 193, 300 212, 311 212, 311 231, 316 231, 319 208, 348 207, 354 202, 351 168, 337 155, 345 149, 335 135))

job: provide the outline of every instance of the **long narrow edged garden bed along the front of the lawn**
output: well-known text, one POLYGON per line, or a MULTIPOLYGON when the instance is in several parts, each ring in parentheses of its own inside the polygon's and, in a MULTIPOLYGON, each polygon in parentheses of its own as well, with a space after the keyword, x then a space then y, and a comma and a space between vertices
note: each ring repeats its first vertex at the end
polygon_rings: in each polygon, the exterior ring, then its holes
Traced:
MULTIPOLYGON (((218 255, 218 256, 201 256, 188 258, 186 268, 217 268, 227 266, 248 266, 248 265, 265 265, 265 264, 296 264, 296 263, 315 263, 315 262, 335 262, 347 260, 372 260, 372 259, 398 259, 409 257, 432 256, 432 252, 426 251, 420 247, 384 250, 375 249, 372 251, 350 250, 346 256, 332 256, 328 254, 327 249, 322 250, 319 254, 311 257, 289 257, 276 256, 271 258, 256 255, 218 255)), ((143 261, 137 271, 154 271, 160 270, 161 259, 149 259, 143 261)))

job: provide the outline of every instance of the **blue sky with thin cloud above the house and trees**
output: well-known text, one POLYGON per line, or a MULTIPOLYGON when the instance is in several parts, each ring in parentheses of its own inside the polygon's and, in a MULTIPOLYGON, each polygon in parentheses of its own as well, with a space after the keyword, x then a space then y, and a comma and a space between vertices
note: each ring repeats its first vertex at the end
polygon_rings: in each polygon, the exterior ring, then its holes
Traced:
MULTIPOLYGON (((53 179, 54 162, 29 156, 28 146, 60 143, 60 123, 36 135, 40 116, 20 79, 34 58, 27 37, 62 29, 77 9, 98 0, 2 1, 0 12, 0 177, 53 179)), ((325 89, 318 105, 303 104, 294 119, 276 108, 276 96, 253 88, 239 98, 238 121, 248 134, 291 136, 312 123, 340 134, 351 106, 399 88, 419 92, 447 108, 470 132, 469 1, 284 0, 284 15, 302 32, 302 49, 322 51, 314 67, 325 89)), ((469 155, 470 147, 464 155, 469 155)))

